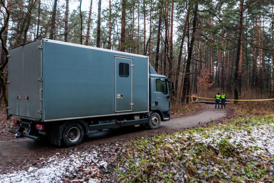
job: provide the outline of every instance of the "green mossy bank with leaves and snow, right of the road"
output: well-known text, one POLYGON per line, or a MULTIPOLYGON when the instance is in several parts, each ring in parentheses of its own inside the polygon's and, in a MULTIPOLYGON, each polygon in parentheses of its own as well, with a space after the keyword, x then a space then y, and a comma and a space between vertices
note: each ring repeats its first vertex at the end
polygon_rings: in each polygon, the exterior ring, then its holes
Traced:
MULTIPOLYGON (((260 138, 274 135, 273 121, 274 115, 248 116, 227 120, 222 123, 224 126, 210 124, 130 141, 119 154, 116 179, 122 182, 274 181, 274 156, 271 149, 260 145, 260 138)), ((269 139, 265 142, 266 146, 274 143, 269 139)))

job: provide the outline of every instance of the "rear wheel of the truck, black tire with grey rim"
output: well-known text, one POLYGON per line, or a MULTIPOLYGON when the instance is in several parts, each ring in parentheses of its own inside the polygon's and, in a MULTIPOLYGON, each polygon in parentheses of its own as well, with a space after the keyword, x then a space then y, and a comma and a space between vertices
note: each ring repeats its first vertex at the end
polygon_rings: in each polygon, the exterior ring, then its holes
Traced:
POLYGON ((79 123, 70 123, 63 131, 63 140, 69 147, 80 144, 83 138, 84 130, 79 123))

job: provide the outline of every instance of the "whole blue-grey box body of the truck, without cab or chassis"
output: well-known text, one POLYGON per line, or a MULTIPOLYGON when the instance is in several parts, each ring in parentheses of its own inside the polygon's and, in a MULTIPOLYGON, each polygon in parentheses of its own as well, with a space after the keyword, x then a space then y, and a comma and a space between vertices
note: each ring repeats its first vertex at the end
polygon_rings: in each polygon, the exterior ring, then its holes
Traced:
POLYGON ((9 54, 12 116, 46 122, 149 112, 147 56, 48 39, 9 54))

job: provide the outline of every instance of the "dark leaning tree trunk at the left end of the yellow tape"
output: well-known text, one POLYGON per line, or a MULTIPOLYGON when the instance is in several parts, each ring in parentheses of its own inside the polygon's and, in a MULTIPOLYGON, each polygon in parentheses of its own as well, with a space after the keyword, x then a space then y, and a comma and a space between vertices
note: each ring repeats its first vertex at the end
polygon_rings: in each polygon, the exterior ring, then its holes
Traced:
MULTIPOLYGON (((193 25, 192 25, 192 36, 191 40, 188 44, 188 52, 187 52, 187 65, 185 71, 185 79, 183 84, 183 93, 182 93, 182 102, 185 101, 187 95, 190 95, 190 61, 192 57, 193 43, 195 39, 196 32, 196 22, 197 22, 197 12, 198 12, 198 2, 195 2, 194 12, 193 12, 193 25)), ((188 30, 189 32, 189 30, 188 30)), ((187 97, 187 103, 189 102, 189 97, 187 97)))

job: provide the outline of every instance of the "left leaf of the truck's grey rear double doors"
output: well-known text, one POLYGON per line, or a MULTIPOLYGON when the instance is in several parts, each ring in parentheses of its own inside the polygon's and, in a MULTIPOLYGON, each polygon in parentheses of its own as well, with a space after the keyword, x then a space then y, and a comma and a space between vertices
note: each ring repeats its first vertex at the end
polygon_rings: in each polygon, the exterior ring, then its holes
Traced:
POLYGON ((8 104, 9 114, 22 116, 22 68, 23 68, 23 47, 17 47, 9 50, 10 58, 8 60, 8 104), (18 100, 17 100, 18 99, 18 100))

